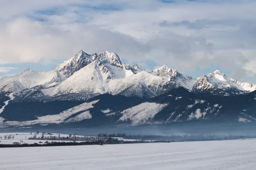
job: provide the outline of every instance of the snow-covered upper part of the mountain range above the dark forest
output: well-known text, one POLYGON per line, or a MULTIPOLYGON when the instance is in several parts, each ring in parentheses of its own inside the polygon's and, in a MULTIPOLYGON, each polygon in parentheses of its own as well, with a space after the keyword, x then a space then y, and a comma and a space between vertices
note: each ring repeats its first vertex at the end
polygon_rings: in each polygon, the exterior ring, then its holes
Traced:
POLYGON ((122 63, 115 53, 79 51, 48 72, 30 69, 0 79, 0 92, 14 93, 17 100, 90 99, 99 94, 151 98, 182 86, 196 93, 244 94, 256 85, 242 83, 220 71, 199 78, 180 74, 166 65, 152 72, 122 63))

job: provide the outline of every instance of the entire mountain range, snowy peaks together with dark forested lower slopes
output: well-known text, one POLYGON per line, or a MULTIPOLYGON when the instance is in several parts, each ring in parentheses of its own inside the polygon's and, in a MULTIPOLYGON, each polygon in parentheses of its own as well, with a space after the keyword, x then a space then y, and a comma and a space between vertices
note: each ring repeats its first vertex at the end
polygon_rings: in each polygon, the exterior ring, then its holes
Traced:
POLYGON ((115 53, 81 50, 52 71, 28 68, 1 78, 0 125, 251 122, 255 90, 218 70, 199 78, 166 65, 148 72, 122 63, 115 53))

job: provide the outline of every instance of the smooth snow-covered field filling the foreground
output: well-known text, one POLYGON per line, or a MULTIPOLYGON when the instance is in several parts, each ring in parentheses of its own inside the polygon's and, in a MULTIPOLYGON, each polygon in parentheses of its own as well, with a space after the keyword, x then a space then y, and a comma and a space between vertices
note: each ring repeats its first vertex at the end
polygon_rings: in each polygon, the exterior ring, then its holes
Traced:
POLYGON ((255 170, 256 140, 0 148, 0 170, 255 170))

